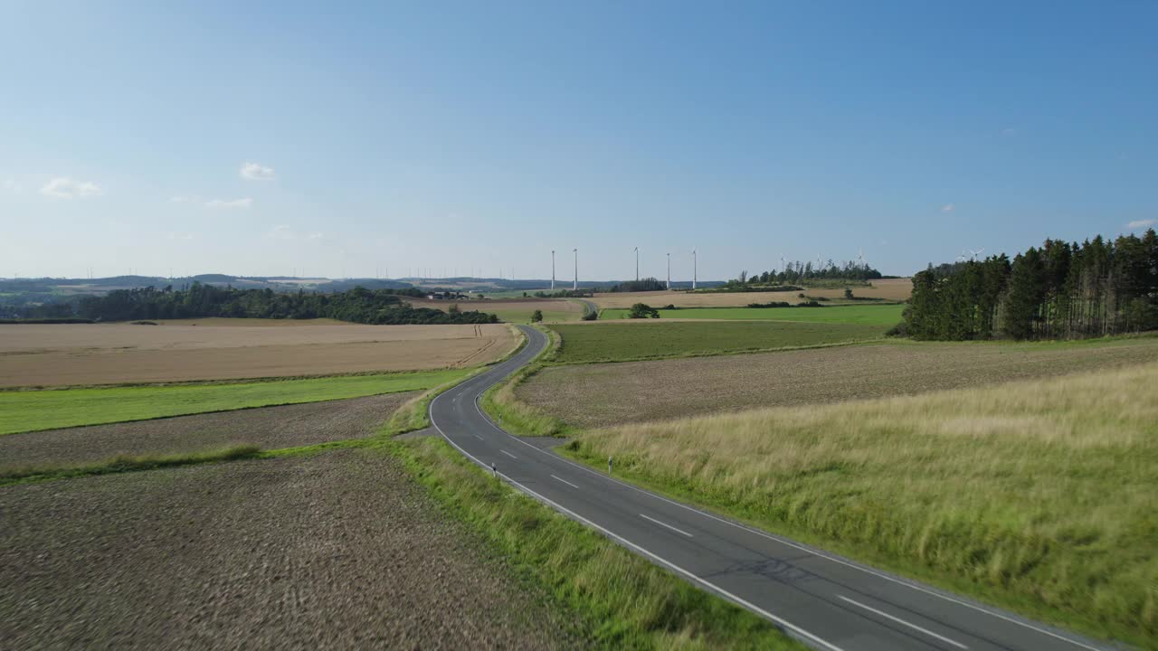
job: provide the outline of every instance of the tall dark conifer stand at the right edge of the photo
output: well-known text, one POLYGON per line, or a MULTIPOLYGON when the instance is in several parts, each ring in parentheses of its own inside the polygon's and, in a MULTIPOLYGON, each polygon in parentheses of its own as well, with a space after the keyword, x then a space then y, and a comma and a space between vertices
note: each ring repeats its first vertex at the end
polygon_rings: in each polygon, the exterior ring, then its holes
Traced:
POLYGON ((904 331, 917 339, 1080 338, 1158 329, 1158 236, 1046 240, 1012 261, 930 265, 914 276, 904 331))

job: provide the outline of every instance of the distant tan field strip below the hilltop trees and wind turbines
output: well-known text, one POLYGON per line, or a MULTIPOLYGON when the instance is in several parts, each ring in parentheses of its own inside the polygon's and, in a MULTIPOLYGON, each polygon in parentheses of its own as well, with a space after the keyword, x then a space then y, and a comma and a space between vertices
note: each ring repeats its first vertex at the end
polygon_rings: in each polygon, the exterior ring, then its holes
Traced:
MULTIPOLYGON (((872 287, 852 287, 852 293, 863 298, 877 298, 891 301, 903 301, 913 293, 913 280, 910 278, 889 278, 885 280, 873 280, 872 287)), ((615 294, 595 294, 587 299, 600 308, 625 308, 637 302, 645 302, 652 307, 664 307, 674 305, 676 307, 743 307, 750 302, 789 301, 796 302, 800 299, 800 292, 731 292, 731 293, 691 293, 691 292, 628 292, 615 294)), ((826 297, 830 299, 844 298, 844 290, 809 290, 804 293, 809 297, 826 297)))

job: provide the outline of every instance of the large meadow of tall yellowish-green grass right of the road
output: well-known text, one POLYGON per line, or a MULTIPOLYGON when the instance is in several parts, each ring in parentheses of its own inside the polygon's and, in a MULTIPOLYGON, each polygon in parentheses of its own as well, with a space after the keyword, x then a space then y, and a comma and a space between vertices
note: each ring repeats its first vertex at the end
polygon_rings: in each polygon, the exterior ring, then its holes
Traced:
POLYGON ((564 451, 764 529, 1158 649, 1158 364, 624 425, 564 451))

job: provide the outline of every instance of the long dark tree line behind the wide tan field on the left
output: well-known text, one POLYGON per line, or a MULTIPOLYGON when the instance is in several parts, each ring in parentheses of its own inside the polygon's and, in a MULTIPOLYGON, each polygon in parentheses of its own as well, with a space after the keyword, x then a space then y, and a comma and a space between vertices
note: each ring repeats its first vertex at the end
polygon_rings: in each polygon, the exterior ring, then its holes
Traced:
POLYGON ((367 290, 354 287, 345 292, 322 293, 298 291, 279 293, 272 290, 236 290, 193 283, 174 290, 113 290, 103 297, 83 297, 73 305, 43 306, 29 317, 76 316, 102 321, 137 321, 146 319, 205 319, 212 316, 249 319, 336 319, 353 323, 497 323, 498 317, 482 312, 450 313, 412 307, 402 297, 409 288, 367 290), (60 314, 66 308, 71 314, 60 314))

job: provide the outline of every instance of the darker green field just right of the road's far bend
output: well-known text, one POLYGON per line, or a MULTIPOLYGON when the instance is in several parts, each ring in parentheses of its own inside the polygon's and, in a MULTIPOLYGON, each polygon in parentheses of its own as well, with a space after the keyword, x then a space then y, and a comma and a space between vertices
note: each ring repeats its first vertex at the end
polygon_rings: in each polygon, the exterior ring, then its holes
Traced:
POLYGON ((552 326, 551 329, 563 338, 563 345, 554 360, 576 363, 818 346, 880 338, 887 328, 881 324, 862 323, 796 321, 665 323, 660 320, 645 323, 552 326))

